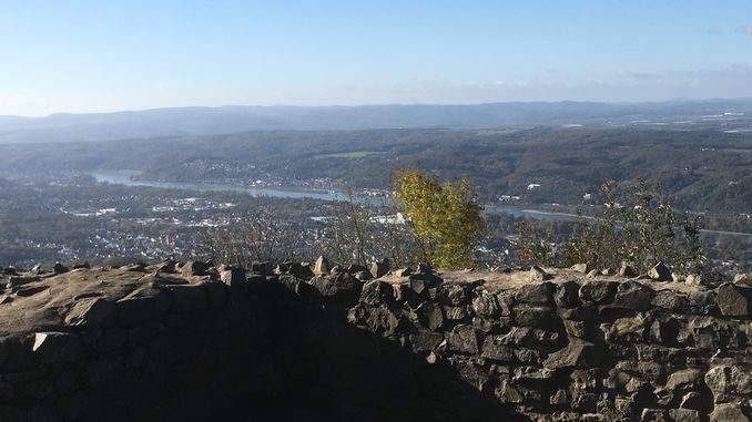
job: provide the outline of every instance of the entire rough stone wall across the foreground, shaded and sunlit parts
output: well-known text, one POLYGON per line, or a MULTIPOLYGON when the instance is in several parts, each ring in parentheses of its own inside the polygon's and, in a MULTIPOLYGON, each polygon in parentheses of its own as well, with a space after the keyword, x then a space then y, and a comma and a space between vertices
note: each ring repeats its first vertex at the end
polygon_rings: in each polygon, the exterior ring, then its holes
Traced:
POLYGON ((751 415, 745 286, 254 269, 7 278, 0 327, 24 323, 0 338, 0 421, 751 415))

